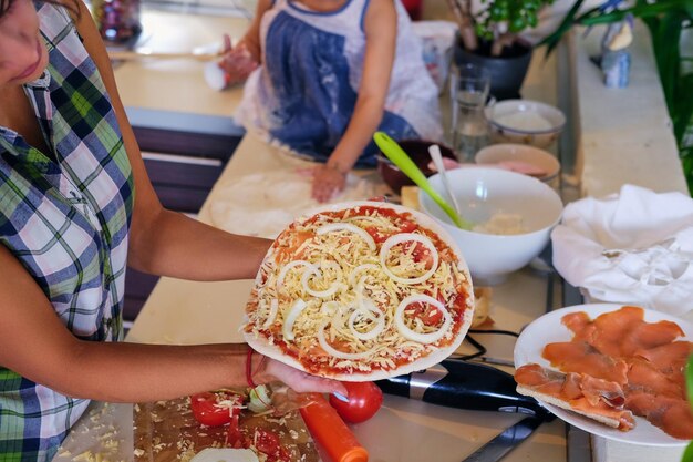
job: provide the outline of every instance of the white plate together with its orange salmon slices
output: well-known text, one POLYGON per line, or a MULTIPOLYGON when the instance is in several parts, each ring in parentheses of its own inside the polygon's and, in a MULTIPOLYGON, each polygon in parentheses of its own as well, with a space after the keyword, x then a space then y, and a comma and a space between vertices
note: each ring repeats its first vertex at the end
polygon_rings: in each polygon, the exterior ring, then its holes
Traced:
POLYGON ((684 368, 693 325, 635 306, 578 305, 525 328, 515 346, 518 392, 590 433, 631 444, 693 439, 684 368))

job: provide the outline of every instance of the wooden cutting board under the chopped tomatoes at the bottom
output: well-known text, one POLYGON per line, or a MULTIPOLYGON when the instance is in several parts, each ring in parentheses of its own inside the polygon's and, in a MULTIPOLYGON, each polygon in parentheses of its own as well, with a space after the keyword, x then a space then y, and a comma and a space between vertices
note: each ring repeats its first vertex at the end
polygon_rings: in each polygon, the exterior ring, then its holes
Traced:
MULTIPOLYGON (((187 462, 205 448, 224 448, 228 424, 205 427, 190 411, 189 399, 135 404, 133 411, 135 462, 187 462)), ((291 454, 291 462, 318 462, 316 444, 297 410, 281 418, 255 415, 244 410, 239 427, 244 434, 256 429, 275 432, 291 454)))

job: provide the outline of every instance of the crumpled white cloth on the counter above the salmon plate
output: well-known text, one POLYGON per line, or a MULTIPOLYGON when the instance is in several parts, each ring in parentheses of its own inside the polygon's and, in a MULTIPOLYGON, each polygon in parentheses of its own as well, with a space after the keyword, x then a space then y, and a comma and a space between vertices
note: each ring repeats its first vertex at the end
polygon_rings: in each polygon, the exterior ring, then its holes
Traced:
POLYGON ((680 316, 693 309, 693 199, 624 185, 566 206, 554 266, 592 299, 680 316))

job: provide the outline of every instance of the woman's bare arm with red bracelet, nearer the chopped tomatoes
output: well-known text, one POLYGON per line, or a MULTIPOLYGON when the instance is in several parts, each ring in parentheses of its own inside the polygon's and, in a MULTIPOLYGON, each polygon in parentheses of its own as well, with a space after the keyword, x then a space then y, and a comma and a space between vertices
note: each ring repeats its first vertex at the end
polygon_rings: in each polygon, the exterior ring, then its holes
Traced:
MULTIPOLYGON (((155 346, 76 339, 43 291, 0 245, 0 366, 63 394, 111 402, 177 398, 246 382, 245 345, 155 346)), ((297 391, 341 391, 254 355, 258 383, 281 380, 297 391)))

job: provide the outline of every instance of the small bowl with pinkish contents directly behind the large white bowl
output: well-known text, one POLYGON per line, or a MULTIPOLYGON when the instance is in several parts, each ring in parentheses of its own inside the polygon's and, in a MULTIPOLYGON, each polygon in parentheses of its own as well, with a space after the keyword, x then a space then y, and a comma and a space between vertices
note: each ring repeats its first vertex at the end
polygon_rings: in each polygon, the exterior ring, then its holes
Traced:
POLYGON ((526 144, 492 144, 474 157, 478 165, 500 167, 549 183, 560 172, 560 162, 551 153, 526 144))

